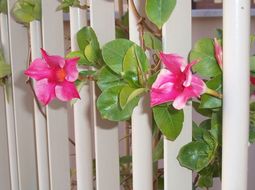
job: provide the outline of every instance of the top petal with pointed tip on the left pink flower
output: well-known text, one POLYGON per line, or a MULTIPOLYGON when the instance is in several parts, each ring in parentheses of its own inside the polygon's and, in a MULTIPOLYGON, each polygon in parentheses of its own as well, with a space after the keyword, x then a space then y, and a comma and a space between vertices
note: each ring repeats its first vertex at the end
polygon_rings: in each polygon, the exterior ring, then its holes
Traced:
POLYGON ((50 67, 61 67, 65 66, 65 59, 58 55, 48 55, 44 49, 41 49, 43 59, 50 67))

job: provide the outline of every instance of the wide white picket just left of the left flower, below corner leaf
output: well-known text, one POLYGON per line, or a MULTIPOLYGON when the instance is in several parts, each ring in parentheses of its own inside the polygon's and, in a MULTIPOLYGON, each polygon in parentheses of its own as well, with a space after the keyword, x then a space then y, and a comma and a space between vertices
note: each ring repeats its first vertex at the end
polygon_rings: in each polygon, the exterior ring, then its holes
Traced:
MULTIPOLYGON (((10 34, 10 55, 12 65, 12 87, 15 128, 10 131, 14 143, 16 135, 19 187, 14 176, 15 187, 19 190, 34 190, 37 188, 36 153, 33 124, 33 95, 31 89, 26 85, 24 70, 28 62, 28 30, 21 24, 15 22, 11 15, 11 8, 15 0, 8 1, 9 9, 9 34, 10 34)), ((9 134, 9 131, 8 131, 9 134)), ((15 145, 12 145, 10 154, 15 158, 15 145)), ((10 158, 12 158, 10 155, 10 158)), ((14 159, 13 158, 13 159, 14 159)), ((16 168, 16 166, 13 166, 16 168)))

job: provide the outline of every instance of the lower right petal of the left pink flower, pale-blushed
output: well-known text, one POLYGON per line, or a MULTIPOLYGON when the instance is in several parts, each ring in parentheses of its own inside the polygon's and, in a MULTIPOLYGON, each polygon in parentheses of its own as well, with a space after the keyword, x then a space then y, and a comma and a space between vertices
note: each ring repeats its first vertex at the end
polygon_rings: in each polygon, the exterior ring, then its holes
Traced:
POLYGON ((62 101, 70 101, 73 98, 80 98, 80 95, 72 82, 64 81, 55 88, 56 96, 62 101))

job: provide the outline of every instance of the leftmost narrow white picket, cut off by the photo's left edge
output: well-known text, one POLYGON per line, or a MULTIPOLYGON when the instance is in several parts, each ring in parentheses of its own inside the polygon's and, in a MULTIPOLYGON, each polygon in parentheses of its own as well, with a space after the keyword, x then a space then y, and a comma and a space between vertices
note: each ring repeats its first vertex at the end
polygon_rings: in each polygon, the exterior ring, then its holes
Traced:
MULTIPOLYGON (((9 35, 8 35, 8 16, 0 14, 0 30, 1 30, 1 45, 3 53, 9 60, 9 35)), ((9 165, 9 150, 8 150, 8 135, 7 135, 7 121, 6 121, 6 107, 5 103, 6 88, 0 87, 0 189, 11 189, 11 176, 9 165)), ((12 109, 13 110, 13 109, 12 109)))

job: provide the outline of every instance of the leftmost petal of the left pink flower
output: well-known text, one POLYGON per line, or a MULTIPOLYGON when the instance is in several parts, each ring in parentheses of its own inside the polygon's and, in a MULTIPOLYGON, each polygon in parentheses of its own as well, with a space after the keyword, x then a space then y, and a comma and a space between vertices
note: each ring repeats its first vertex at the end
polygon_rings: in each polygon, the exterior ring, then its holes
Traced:
POLYGON ((35 59, 24 74, 35 80, 53 77, 51 69, 43 59, 35 59))

